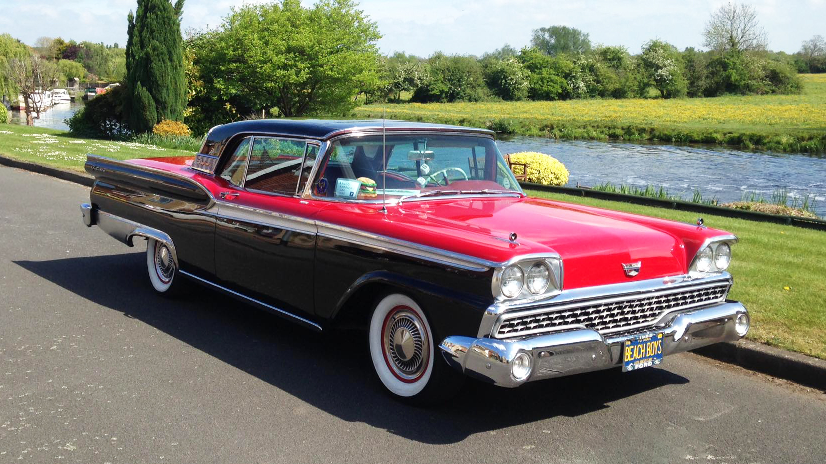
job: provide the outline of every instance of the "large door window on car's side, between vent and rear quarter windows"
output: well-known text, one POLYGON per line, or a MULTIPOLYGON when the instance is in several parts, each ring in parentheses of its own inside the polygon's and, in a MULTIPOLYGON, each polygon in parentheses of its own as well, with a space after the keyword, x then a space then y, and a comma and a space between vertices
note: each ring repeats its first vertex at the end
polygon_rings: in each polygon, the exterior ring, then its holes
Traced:
POLYGON ((305 146, 304 140, 255 137, 244 187, 262 192, 295 195, 305 146))

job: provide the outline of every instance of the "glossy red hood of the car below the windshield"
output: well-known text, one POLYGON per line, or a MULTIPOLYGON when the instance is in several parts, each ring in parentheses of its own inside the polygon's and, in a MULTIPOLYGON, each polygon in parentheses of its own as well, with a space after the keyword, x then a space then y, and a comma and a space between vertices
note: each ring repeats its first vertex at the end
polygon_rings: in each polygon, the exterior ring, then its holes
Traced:
POLYGON ((563 286, 569 289, 684 274, 686 257, 693 257, 706 237, 724 234, 537 198, 408 201, 388 207, 387 216, 365 215, 373 209, 339 204, 326 208, 319 219, 495 262, 528 253, 559 253, 563 286), (348 218, 356 217, 358 224, 349 224, 348 218), (516 244, 507 240, 512 232, 517 234, 516 244), (627 277, 622 264, 636 262, 642 263, 638 275, 627 277))

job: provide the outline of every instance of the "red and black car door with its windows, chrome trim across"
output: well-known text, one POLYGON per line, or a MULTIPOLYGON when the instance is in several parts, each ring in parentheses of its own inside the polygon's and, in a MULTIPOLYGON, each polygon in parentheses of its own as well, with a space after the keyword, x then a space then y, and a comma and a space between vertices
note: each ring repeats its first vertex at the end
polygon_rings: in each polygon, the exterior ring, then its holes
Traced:
POLYGON ((217 277, 244 296, 306 318, 313 314, 313 260, 320 201, 303 188, 317 142, 250 136, 225 164, 218 199, 217 277))

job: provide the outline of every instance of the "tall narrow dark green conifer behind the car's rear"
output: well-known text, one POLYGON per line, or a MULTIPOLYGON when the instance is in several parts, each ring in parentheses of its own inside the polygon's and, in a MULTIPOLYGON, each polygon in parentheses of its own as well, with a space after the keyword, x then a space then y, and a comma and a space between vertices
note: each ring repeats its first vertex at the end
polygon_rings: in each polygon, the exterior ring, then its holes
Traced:
POLYGON ((159 121, 183 119, 187 83, 180 15, 183 0, 138 0, 127 17, 125 112, 131 129, 149 132, 159 121))

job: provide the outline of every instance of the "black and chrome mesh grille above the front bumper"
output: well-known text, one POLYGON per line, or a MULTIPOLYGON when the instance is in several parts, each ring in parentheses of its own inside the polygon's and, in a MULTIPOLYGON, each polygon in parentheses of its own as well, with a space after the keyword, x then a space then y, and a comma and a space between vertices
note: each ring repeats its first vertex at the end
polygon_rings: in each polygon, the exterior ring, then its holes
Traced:
POLYGON ((730 282, 714 282, 505 313, 493 334, 506 339, 573 328, 595 329, 601 334, 637 329, 676 310, 724 301, 730 286, 730 282))

